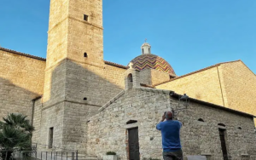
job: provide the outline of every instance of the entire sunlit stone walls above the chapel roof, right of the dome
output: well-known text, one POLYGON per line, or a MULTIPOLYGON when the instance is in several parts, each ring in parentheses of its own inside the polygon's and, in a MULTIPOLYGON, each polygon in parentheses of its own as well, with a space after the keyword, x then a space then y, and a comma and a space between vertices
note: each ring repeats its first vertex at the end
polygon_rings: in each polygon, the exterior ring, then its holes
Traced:
POLYGON ((256 115, 256 100, 251 98, 256 95, 256 76, 241 60, 210 66, 155 88, 175 90, 178 94, 256 115))

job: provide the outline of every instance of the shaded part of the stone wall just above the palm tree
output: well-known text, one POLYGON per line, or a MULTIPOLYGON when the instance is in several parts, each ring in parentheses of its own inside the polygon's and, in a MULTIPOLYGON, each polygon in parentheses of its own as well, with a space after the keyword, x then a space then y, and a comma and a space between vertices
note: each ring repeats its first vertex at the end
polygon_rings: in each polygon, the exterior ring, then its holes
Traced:
POLYGON ((20 112, 32 120, 32 100, 38 97, 27 89, 20 88, 11 81, 0 77, 0 118, 9 113, 20 112))

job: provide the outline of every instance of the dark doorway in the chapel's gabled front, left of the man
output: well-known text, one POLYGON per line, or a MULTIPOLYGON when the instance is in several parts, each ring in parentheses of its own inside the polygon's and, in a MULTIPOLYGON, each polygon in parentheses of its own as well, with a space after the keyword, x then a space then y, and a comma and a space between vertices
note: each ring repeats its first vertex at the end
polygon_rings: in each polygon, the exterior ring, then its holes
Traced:
POLYGON ((128 139, 129 139, 129 159, 130 160, 139 160, 139 143, 138 143, 138 130, 137 128, 128 130, 128 139))

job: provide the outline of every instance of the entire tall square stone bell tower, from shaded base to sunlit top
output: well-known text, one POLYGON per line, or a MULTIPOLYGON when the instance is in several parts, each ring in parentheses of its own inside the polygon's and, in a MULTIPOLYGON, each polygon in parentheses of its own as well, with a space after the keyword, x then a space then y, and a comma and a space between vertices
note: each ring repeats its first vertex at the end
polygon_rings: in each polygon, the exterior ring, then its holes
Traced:
POLYGON ((82 121, 102 104, 103 69, 102 0, 50 0, 39 143, 52 129, 53 146, 86 150, 82 121))

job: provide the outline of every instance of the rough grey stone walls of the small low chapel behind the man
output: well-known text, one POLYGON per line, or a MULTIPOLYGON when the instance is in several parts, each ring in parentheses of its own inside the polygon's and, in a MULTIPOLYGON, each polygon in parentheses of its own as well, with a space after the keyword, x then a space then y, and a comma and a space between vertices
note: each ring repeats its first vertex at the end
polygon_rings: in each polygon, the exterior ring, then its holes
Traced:
MULTIPOLYGON (((102 157, 107 151, 115 151, 120 159, 127 159, 127 129, 138 127, 141 159, 162 159, 161 135, 155 125, 160 122, 164 111, 170 111, 170 106, 175 109, 182 107, 181 103, 164 93, 155 89, 154 92, 131 89, 91 117, 87 135, 88 154, 102 157), (137 123, 126 124, 129 120, 137 120, 137 123)), ((253 117, 190 102, 189 109, 180 112, 177 118, 183 123, 181 140, 184 156, 209 154, 209 159, 222 159, 218 123, 224 123, 232 159, 239 159, 245 153, 251 160, 256 158, 253 117), (199 122, 199 118, 204 122, 199 122)))

